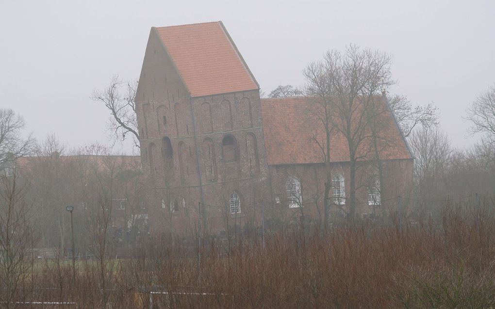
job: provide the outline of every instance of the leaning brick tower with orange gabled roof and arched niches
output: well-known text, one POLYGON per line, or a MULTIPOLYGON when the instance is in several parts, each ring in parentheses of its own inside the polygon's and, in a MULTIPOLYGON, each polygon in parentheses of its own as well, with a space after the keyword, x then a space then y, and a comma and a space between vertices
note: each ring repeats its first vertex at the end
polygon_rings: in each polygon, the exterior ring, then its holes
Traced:
POLYGON ((152 226, 257 225, 268 196, 259 85, 222 22, 151 28, 136 112, 152 226))

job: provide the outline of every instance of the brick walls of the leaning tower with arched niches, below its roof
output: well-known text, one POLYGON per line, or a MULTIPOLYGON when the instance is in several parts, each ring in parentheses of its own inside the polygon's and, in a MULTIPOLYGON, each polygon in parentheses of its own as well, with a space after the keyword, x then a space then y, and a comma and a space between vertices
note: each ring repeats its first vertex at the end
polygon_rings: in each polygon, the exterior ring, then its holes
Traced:
POLYGON ((201 190, 204 203, 212 205, 203 207, 208 228, 255 220, 251 205, 269 199, 260 194, 268 192, 268 166, 258 90, 191 98, 151 31, 136 102, 156 232, 193 232, 201 190), (228 207, 233 192, 240 197, 238 214, 228 207))

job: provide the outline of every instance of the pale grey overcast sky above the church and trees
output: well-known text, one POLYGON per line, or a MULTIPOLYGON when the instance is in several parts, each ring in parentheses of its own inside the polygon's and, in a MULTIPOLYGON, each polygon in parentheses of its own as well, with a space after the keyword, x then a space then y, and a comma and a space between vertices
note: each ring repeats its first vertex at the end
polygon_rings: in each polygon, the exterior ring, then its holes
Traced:
MULTIPOLYGON (((495 82, 495 1, 0 2, 0 106, 37 138, 99 141, 108 114, 90 100, 113 74, 137 79, 151 26, 222 20, 263 91, 300 85, 301 70, 346 44, 394 55, 396 93, 434 101, 461 146, 465 108, 495 82)), ((124 146, 129 152, 131 147, 124 146)))

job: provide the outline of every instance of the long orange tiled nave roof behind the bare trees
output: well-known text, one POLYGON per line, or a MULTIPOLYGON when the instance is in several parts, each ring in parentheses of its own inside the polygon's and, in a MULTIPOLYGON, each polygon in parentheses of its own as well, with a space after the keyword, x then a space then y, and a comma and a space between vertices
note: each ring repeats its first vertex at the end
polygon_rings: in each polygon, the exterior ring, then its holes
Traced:
MULTIPOLYGON (((380 97, 381 104, 386 104, 380 97)), ((326 144, 324 126, 314 113, 308 112, 314 104, 306 97, 284 97, 261 99, 263 131, 268 164, 303 164, 322 163, 323 152, 313 139, 326 144)), ((383 136, 388 144, 383 146, 383 159, 411 159, 407 145, 402 138, 395 119, 390 112, 381 115, 381 123, 385 126, 383 136)), ((370 146, 363 143, 363 147, 370 146)), ((335 133, 330 141, 330 157, 332 162, 349 161, 347 140, 344 135, 335 133)))

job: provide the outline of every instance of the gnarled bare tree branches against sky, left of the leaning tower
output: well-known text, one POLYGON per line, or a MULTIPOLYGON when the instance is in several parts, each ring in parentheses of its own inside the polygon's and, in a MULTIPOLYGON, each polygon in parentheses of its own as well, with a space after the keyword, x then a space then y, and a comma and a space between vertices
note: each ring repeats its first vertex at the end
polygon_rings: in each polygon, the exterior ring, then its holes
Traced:
POLYGON ((138 121, 136 116, 136 89, 138 82, 123 82, 118 76, 110 79, 103 90, 93 90, 91 98, 102 103, 110 112, 107 130, 114 141, 124 141, 127 134, 133 137, 134 146, 139 148, 138 121))

